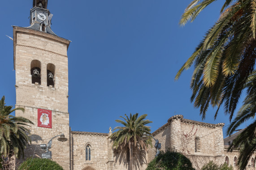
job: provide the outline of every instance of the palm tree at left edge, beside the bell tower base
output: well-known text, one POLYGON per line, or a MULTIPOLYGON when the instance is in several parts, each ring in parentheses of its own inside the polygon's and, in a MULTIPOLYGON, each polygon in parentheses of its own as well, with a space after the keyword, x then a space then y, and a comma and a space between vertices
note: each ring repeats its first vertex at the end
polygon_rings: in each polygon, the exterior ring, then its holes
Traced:
POLYGON ((32 123, 29 119, 10 115, 15 110, 13 106, 5 106, 4 96, 0 100, 0 153, 7 157, 14 153, 15 157, 24 157, 26 144, 31 143, 28 136, 29 130, 23 125, 29 126, 32 123), (21 126, 22 125, 22 126, 21 126))

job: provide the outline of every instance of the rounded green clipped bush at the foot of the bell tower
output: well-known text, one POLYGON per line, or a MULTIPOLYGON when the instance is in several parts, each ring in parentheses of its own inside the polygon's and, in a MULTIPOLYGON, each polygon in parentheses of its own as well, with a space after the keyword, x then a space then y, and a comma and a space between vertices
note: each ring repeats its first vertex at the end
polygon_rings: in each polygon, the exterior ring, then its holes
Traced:
POLYGON ((18 170, 64 170, 59 164, 50 159, 29 157, 18 168, 18 170))

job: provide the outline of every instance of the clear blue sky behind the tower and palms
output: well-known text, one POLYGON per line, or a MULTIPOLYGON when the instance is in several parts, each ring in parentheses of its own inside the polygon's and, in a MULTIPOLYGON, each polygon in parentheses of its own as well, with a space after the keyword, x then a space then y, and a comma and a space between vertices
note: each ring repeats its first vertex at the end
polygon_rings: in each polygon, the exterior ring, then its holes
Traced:
MULTIPOLYGON (((202 121, 190 102, 193 68, 174 76, 219 17, 221 0, 178 25, 190 0, 49 0, 52 30, 69 39, 69 125, 108 132, 124 114, 148 114, 154 132, 173 115, 202 121)), ((11 26, 29 26, 32 0, 0 5, 0 97, 15 105, 11 26)), ((239 105, 240 106, 240 105, 239 105)), ((209 109, 204 122, 229 124, 209 109)), ((242 128, 245 125, 242 126, 242 128)), ((226 128, 225 128, 226 129, 226 128)), ((224 133, 225 136, 225 133, 224 133)))

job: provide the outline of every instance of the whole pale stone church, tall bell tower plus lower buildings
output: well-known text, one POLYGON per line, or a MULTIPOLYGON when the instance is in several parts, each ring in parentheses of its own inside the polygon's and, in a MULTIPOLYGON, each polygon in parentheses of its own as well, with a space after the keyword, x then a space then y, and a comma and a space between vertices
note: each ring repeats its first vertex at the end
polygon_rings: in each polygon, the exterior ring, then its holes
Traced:
MULTIPOLYGON (((129 157, 113 149, 108 138, 111 127, 108 133, 76 132, 69 127, 67 50, 70 41, 52 31, 52 14, 47 5, 48 0, 33 0, 30 26, 13 26, 15 107, 25 109, 24 113, 17 110, 15 115, 34 123, 29 127, 32 142, 25 150, 25 159, 52 158, 64 170, 128 170, 129 157), (43 145, 49 141, 54 147, 43 145)), ((203 123, 174 115, 152 136, 161 142, 161 150, 176 149, 189 157, 197 170, 208 161, 236 167, 239 152, 227 152, 226 145, 233 138, 223 140, 223 126, 224 123, 203 123)), ((136 153, 134 170, 145 170, 155 154, 155 148, 136 153)), ((254 169, 251 159, 248 167, 254 169)), ((24 160, 16 160, 16 164, 24 160)))

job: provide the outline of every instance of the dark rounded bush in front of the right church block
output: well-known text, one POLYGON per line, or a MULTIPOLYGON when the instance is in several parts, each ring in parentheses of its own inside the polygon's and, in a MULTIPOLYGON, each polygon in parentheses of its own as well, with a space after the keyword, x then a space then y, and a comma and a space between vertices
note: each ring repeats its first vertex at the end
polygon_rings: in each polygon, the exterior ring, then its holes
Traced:
POLYGON ((191 161, 175 151, 161 151, 149 164, 146 170, 195 170, 191 161))

